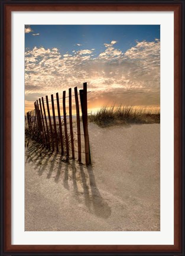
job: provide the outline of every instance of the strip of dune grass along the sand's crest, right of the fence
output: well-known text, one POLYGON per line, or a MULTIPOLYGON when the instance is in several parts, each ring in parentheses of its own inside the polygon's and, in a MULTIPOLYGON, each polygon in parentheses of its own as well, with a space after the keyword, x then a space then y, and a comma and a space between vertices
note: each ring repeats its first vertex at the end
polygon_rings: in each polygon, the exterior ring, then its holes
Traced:
POLYGON ((89 122, 98 124, 100 127, 107 127, 119 124, 152 124, 160 123, 160 111, 147 110, 146 108, 134 108, 128 105, 119 107, 100 108, 95 114, 88 116, 89 122))

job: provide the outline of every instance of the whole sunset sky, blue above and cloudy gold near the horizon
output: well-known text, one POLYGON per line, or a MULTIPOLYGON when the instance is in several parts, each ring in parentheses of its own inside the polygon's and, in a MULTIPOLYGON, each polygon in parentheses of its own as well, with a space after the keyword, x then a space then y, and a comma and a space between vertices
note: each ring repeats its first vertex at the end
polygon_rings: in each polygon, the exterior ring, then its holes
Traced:
POLYGON ((25 112, 87 82, 88 108, 160 105, 160 25, 25 25, 25 112))

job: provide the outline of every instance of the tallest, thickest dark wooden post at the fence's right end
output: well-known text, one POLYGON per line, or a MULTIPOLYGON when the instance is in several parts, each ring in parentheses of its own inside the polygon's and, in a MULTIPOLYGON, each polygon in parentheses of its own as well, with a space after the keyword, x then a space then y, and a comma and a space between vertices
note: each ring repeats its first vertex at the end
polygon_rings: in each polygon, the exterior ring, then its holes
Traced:
POLYGON ((83 121, 83 132, 85 139, 85 153, 86 153, 86 165, 91 164, 90 158, 90 146, 89 146, 89 133, 87 124, 87 83, 83 83, 83 89, 80 90, 80 103, 82 108, 82 121, 83 121))

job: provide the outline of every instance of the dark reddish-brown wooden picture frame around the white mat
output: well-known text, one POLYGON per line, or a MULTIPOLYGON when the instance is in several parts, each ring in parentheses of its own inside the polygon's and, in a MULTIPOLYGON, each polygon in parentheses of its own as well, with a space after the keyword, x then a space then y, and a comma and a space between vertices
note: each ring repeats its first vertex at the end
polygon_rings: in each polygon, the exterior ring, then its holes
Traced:
POLYGON ((184 1, 1 1, 1 255, 184 255, 184 1), (174 245, 11 245, 11 12, 174 11, 174 245))

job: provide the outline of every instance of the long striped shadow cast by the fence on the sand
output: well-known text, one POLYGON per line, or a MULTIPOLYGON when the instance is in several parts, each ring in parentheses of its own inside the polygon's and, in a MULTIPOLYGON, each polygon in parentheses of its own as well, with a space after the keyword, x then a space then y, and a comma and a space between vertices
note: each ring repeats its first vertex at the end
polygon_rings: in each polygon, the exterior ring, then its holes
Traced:
POLYGON ((111 207, 103 199, 96 185, 92 165, 86 166, 74 159, 66 159, 60 153, 43 149, 35 142, 26 150, 25 161, 34 162, 37 175, 53 178, 53 182, 63 185, 69 193, 73 191, 76 200, 85 204, 90 213, 103 219, 111 216, 111 207))

